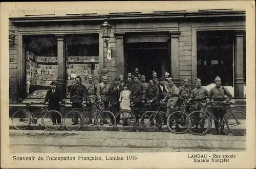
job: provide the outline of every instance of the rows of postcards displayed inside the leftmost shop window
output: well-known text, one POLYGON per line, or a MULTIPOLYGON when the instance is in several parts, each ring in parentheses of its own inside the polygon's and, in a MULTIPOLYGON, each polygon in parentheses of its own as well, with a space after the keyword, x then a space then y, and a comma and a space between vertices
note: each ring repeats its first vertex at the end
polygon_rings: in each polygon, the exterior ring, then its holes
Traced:
POLYGON ((27 94, 30 93, 31 86, 36 86, 35 88, 38 89, 28 98, 43 98, 50 87, 50 83, 57 80, 57 57, 41 57, 31 51, 27 51, 26 57, 27 94))

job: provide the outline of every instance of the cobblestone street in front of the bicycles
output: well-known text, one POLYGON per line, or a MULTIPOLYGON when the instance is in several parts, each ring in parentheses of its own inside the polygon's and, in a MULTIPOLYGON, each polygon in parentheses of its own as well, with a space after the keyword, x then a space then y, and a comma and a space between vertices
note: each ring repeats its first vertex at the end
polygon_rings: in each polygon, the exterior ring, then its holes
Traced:
POLYGON ((246 136, 120 131, 10 130, 10 153, 246 151, 246 136))

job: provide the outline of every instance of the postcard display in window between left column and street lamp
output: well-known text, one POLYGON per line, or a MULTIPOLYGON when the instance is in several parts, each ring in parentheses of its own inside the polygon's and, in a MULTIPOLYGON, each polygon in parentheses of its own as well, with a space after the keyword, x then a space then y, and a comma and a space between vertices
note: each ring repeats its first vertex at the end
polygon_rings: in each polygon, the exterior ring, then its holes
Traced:
MULTIPOLYGON (((72 85, 76 83, 75 77, 79 75, 85 85, 90 75, 94 83, 99 82, 99 57, 68 56, 67 57, 67 94, 72 85)), ((68 96, 69 97, 69 96, 68 96)))

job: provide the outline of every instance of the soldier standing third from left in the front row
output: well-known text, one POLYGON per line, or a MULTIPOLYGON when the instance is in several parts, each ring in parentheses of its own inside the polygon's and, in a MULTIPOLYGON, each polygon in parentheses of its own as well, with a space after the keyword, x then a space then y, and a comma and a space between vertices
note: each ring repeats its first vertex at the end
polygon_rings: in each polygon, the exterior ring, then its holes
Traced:
MULTIPOLYGON (((96 101, 97 101, 97 84, 93 82, 93 76, 88 77, 88 83, 86 84, 86 104, 89 107, 89 117, 92 118, 96 114, 96 101)), ((92 120, 90 121, 91 123, 92 120)), ((94 116, 94 125, 96 125, 96 116, 94 116)), ((102 122, 100 125, 103 125, 102 122)))

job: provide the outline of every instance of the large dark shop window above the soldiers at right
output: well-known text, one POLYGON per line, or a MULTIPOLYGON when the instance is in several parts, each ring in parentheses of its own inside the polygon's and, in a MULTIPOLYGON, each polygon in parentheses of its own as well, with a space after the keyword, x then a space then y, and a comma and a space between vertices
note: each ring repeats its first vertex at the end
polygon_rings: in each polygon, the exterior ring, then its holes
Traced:
POLYGON ((202 86, 214 83, 216 76, 223 86, 233 86, 233 39, 231 31, 197 32, 197 76, 202 86))

